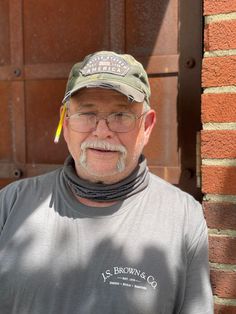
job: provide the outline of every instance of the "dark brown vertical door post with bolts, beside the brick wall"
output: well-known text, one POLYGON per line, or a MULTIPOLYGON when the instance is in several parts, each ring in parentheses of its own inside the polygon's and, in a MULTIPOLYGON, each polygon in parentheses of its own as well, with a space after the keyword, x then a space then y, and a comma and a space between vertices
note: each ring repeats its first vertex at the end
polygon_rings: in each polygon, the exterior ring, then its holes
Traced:
POLYGON ((181 150, 182 189, 202 199, 197 184, 197 136, 201 130, 201 69, 203 54, 203 3, 180 0, 180 58, 178 95, 178 145, 181 150), (194 184, 189 184, 194 181, 194 184), (191 187, 194 186, 194 188, 191 187))

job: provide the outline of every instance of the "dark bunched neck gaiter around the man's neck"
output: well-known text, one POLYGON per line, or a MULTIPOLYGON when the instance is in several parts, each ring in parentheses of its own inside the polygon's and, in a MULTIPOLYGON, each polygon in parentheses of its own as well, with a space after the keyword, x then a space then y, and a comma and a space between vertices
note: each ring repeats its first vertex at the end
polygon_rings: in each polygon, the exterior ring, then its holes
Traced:
POLYGON ((143 155, 134 171, 127 178, 114 184, 92 183, 79 178, 71 156, 66 159, 62 171, 73 193, 96 202, 125 200, 144 190, 149 182, 147 161, 143 155))

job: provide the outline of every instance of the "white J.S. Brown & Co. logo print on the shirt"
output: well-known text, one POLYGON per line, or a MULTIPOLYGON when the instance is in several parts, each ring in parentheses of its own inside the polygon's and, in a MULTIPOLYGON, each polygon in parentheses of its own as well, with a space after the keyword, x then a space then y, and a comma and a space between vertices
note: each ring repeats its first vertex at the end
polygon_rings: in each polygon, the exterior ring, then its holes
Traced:
POLYGON ((110 269, 106 269, 101 275, 103 283, 113 286, 142 290, 147 290, 148 286, 154 290, 157 288, 155 277, 137 268, 114 266, 110 269))

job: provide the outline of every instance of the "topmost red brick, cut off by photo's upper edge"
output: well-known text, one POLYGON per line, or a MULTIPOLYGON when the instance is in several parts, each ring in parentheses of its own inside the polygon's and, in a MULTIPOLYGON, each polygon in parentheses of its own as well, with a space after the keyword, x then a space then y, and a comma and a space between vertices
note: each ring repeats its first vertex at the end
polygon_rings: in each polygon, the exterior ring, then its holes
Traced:
POLYGON ((204 15, 236 11, 236 0, 204 0, 204 15))

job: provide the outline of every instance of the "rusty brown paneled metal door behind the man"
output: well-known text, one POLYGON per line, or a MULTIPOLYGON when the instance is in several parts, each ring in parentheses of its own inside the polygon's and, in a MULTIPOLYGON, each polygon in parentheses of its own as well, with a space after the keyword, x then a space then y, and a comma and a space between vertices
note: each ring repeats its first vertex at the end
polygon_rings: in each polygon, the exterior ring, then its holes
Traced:
POLYGON ((152 172, 199 196, 201 1, 2 0, 0 186, 63 163, 55 145, 73 63, 97 50, 133 54, 150 78, 157 126, 145 149, 152 172))

